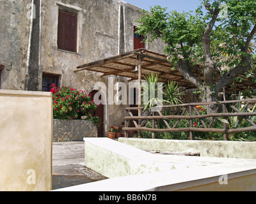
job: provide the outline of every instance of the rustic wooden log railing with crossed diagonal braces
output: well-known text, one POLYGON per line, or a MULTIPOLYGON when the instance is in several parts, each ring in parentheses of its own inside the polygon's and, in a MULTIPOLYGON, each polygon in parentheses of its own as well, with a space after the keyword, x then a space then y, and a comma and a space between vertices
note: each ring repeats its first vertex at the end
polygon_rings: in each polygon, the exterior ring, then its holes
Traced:
MULTIPOLYGON (((256 116, 255 112, 241 112, 238 110, 235 105, 241 103, 244 105, 251 104, 255 105, 256 99, 244 99, 237 101, 220 101, 220 102, 212 102, 212 103, 187 103, 181 105, 170 105, 170 106, 162 106, 161 111, 156 112, 144 112, 142 116, 134 116, 131 113, 131 110, 143 110, 144 107, 135 107, 135 108, 125 108, 125 137, 128 136, 128 131, 138 131, 138 135, 140 137, 140 131, 150 131, 152 132, 152 138, 154 138, 154 133, 163 133, 163 132, 189 132, 189 139, 193 140, 193 132, 212 132, 212 133, 223 133, 223 139, 228 140, 228 134, 232 133, 243 133, 247 131, 256 131, 256 124, 250 120, 250 117, 256 116), (216 106, 216 111, 214 113, 206 113, 205 110, 199 108, 202 106, 216 106), (164 115, 164 112, 170 112, 168 115, 164 115), (229 110, 229 112, 228 112, 229 110), (238 128, 231 127, 229 123, 227 123, 227 119, 237 117, 236 119, 245 119, 251 125, 246 128, 238 128), (175 120, 175 124, 171 127, 167 120, 175 120), (198 128, 197 124, 193 121, 199 120, 200 124, 202 124, 201 128, 198 128), (207 119, 208 124, 205 123, 207 119), (212 124, 214 120, 219 119, 223 127, 220 128, 212 128, 212 124), (145 127, 147 120, 152 120, 152 128, 145 127), (165 124, 166 128, 156 128, 156 120, 162 120, 165 124), (188 120, 189 126, 177 128, 180 120, 188 120), (132 121, 134 127, 129 126, 129 123, 132 121), (209 122, 210 121, 210 122, 209 122)), ((247 109, 247 108, 246 108, 247 109)), ((256 108, 255 108, 256 109, 256 108)))

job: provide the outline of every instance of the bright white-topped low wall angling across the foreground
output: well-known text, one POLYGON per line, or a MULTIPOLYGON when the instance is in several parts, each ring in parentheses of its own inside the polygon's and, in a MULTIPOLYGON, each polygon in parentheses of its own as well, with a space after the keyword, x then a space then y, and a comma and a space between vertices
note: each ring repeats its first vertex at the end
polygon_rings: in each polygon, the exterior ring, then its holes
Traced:
POLYGON ((84 150, 85 166, 109 179, 56 191, 256 190, 255 159, 151 154, 108 138, 84 138, 84 150))

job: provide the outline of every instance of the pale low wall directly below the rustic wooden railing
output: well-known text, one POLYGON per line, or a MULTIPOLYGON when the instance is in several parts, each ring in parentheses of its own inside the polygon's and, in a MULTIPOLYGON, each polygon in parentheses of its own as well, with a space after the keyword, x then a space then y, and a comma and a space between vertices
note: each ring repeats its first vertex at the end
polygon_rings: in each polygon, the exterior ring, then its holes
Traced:
POLYGON ((190 152, 200 153, 202 157, 256 159, 256 142, 152 140, 139 138, 119 138, 118 141, 146 151, 190 152))

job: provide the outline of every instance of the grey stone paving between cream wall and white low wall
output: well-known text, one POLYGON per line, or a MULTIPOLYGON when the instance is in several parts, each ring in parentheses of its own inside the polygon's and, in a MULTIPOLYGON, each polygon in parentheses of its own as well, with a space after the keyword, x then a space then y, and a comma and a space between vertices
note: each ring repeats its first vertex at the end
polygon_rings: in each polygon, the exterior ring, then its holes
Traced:
POLYGON ((52 143, 52 190, 104 179, 84 166, 84 142, 52 143))

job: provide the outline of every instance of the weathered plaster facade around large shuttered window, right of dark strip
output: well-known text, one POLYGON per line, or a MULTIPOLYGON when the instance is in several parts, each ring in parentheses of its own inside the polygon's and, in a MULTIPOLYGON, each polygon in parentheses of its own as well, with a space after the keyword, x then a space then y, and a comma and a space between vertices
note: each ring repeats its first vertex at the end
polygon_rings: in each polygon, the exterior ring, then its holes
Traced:
MULTIPOLYGON (((110 76, 100 77, 102 74, 92 71, 81 71, 79 73, 73 71, 81 64, 133 50, 133 25, 137 25, 135 21, 140 19, 141 9, 119 1, 66 0, 44 1, 42 13, 41 73, 58 74, 61 76, 61 85, 75 87, 88 93, 92 91, 96 82, 104 83, 108 90, 110 76), (72 8, 78 13, 77 53, 58 50, 57 28, 60 6, 72 8), (122 43, 124 47, 122 47, 122 43)), ((148 45, 148 48, 158 52, 163 51, 163 48, 159 47, 159 42, 148 45)), ((42 80, 42 76, 40 77, 40 80, 42 80)), ((127 78, 111 77, 114 78, 114 84, 116 82, 128 84, 127 78)), ((39 84, 42 84, 42 82, 39 84)), ((115 94, 116 92, 114 92, 114 96, 115 94)), ((105 106, 105 129, 108 129, 111 125, 122 124, 125 107, 126 105, 115 104, 105 106)))

